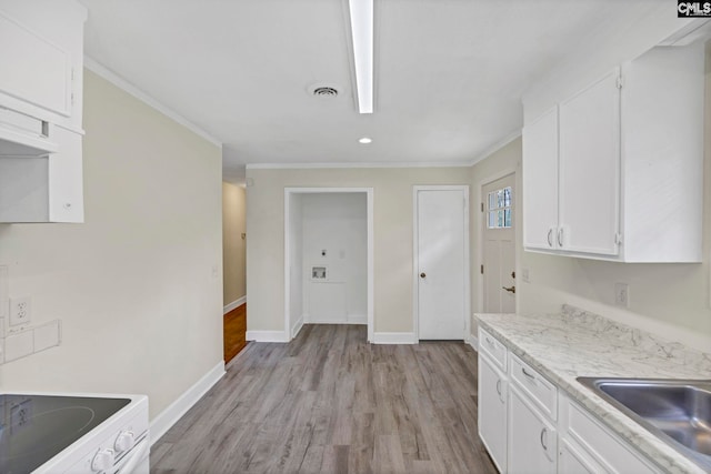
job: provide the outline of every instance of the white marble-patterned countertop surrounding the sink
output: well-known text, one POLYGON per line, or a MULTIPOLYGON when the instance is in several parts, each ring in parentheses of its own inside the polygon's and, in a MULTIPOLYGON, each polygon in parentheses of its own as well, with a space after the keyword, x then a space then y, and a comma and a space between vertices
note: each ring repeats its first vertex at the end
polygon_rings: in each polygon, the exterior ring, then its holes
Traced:
POLYGON ((711 353, 663 341, 597 314, 564 305, 561 314, 477 314, 532 367, 670 473, 703 473, 614 406, 581 385, 578 376, 711 379, 711 353))

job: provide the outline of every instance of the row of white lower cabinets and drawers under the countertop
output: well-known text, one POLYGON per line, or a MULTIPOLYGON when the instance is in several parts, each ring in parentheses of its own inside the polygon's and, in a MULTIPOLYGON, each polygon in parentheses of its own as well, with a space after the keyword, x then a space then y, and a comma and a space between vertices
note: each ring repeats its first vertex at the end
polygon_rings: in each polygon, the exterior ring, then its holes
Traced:
POLYGON ((499 472, 661 472, 489 332, 479 341, 479 436, 499 472))

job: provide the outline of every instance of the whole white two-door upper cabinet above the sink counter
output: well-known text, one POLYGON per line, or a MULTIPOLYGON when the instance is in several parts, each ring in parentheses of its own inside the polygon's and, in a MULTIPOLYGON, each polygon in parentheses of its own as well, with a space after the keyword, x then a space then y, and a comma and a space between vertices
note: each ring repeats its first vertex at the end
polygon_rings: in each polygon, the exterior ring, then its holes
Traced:
POLYGON ((703 68, 658 47, 524 127, 525 250, 701 261, 703 68))

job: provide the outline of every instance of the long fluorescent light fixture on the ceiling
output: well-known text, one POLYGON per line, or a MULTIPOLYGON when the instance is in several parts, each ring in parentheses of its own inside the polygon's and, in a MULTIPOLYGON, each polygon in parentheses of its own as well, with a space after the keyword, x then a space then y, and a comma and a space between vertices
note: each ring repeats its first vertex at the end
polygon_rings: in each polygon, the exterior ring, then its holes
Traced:
POLYGON ((373 113, 373 0, 349 0, 358 110, 373 113))

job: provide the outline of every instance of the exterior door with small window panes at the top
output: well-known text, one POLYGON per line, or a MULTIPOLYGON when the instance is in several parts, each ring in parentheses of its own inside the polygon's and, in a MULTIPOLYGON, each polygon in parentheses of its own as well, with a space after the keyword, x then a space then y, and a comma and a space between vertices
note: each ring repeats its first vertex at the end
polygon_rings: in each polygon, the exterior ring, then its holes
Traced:
POLYGON ((482 188, 484 312, 515 312, 514 174, 482 188))

